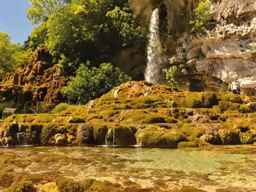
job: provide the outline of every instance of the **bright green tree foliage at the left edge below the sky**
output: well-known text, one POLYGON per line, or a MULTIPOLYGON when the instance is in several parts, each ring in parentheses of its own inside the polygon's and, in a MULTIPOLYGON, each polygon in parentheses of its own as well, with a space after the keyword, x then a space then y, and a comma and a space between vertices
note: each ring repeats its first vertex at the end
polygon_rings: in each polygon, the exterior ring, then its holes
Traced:
POLYGON ((4 74, 13 72, 20 66, 26 66, 30 61, 29 50, 10 42, 11 37, 0 31, 0 81, 4 74))

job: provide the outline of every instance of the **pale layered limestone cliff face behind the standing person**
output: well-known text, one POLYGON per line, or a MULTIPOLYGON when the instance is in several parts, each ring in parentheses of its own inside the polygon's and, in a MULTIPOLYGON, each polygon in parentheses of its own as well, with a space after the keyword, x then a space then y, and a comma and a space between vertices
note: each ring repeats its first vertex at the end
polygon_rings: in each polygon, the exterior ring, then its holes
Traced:
POLYGON ((183 34, 176 42, 175 54, 168 57, 168 66, 188 65, 189 74, 180 75, 184 89, 190 89, 184 80, 192 79, 201 82, 204 90, 220 91, 223 84, 238 78, 242 92, 254 95, 256 2, 219 0, 212 3, 211 12, 216 26, 201 36, 183 34))

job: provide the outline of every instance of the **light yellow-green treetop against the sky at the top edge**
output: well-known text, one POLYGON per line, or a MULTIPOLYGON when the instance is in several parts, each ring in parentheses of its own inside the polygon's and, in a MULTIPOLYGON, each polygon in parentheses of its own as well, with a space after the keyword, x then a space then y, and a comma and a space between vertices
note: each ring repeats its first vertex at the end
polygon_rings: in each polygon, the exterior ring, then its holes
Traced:
POLYGON ((31 8, 28 9, 27 17, 32 24, 41 24, 47 21, 57 8, 66 5, 70 0, 28 0, 31 8))

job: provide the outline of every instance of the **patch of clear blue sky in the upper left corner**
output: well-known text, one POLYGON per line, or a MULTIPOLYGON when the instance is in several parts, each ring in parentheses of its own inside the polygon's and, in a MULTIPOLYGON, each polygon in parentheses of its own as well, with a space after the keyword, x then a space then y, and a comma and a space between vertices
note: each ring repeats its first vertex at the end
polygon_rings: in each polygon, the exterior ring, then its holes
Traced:
POLYGON ((24 44, 32 31, 33 26, 26 17, 28 8, 28 0, 0 0, 0 30, 8 32, 13 43, 24 44))

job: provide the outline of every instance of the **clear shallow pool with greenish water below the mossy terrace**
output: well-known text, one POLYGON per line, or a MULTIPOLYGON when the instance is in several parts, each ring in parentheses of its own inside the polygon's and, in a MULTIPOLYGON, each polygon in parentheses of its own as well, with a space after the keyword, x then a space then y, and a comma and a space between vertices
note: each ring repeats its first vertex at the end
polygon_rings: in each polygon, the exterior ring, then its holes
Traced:
POLYGON ((142 187, 157 180, 171 190, 194 186, 206 191, 243 187, 256 191, 256 152, 107 147, 0 148, 0 156, 28 160, 27 171, 77 180, 96 178, 123 184, 129 178, 142 187))

